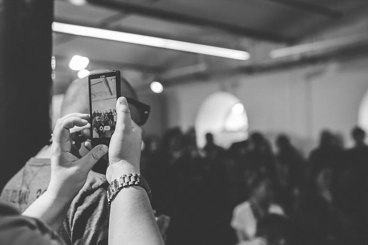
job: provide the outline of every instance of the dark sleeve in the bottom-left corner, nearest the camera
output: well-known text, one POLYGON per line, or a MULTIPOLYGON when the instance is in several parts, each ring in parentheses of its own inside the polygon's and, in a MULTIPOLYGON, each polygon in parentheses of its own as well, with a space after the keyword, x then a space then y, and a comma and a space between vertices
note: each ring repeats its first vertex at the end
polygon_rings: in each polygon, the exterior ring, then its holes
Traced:
POLYGON ((64 245, 45 223, 17 214, 6 204, 0 204, 0 209, 1 245, 64 245))

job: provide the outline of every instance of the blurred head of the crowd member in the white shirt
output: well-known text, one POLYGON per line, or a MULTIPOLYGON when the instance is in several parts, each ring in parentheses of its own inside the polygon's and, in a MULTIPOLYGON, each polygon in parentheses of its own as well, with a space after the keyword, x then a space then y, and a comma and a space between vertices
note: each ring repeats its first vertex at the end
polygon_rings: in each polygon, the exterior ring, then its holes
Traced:
POLYGON ((273 190, 270 178, 265 174, 257 174, 249 185, 251 198, 259 205, 268 206, 273 198, 273 190))

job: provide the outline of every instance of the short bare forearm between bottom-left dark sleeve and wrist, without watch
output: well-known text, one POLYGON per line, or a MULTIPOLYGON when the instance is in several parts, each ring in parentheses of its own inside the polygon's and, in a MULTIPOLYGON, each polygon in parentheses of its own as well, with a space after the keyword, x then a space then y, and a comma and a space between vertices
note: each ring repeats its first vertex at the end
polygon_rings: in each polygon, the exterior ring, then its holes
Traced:
POLYGON ((60 198, 48 191, 37 198, 22 215, 37 218, 58 231, 65 219, 73 198, 60 198))

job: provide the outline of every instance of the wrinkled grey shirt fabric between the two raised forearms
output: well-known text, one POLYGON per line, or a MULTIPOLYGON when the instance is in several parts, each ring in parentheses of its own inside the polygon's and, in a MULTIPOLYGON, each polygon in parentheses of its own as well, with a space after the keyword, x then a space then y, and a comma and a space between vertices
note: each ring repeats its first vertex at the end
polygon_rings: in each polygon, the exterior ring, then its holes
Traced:
POLYGON ((107 245, 110 208, 106 188, 75 198, 59 231, 67 244, 107 245))

